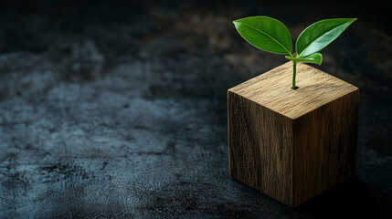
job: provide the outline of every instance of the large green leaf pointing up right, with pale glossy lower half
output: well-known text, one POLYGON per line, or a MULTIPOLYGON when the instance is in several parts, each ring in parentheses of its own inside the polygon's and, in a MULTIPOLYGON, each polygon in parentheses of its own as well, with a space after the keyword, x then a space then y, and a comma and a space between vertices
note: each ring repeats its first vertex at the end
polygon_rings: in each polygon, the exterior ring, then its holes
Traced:
POLYGON ((308 26, 298 36, 295 45, 299 57, 307 57, 322 50, 340 36, 356 18, 326 19, 308 26))

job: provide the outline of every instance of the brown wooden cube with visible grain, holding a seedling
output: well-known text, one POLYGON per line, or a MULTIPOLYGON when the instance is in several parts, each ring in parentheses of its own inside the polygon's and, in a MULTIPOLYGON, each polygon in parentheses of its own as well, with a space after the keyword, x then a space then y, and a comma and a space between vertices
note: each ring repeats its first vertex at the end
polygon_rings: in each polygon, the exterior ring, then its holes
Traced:
POLYGON ((359 89, 292 63, 228 89, 230 175, 295 207, 355 174, 359 89))

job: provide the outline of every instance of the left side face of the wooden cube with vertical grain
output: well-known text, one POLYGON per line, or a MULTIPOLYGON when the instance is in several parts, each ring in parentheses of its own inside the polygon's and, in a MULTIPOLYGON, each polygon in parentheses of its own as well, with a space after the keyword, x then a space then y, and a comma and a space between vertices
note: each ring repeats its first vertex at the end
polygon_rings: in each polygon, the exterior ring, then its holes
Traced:
POLYGON ((230 175, 292 204, 292 120, 228 91, 230 175))

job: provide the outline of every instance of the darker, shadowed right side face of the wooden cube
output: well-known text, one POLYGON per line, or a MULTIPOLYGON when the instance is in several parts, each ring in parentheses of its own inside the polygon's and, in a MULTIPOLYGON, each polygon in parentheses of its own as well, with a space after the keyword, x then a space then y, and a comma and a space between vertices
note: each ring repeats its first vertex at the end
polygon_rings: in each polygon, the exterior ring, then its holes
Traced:
POLYGON ((293 205, 355 174, 359 90, 293 121, 293 205))

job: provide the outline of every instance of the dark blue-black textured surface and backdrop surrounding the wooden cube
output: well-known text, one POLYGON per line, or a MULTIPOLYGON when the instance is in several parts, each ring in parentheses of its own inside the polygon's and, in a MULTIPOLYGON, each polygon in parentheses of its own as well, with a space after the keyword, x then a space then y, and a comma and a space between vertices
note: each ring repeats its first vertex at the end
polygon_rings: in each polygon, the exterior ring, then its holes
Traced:
POLYGON ((390 218, 391 4, 0 4, 0 218, 390 218), (227 89, 286 62, 231 21, 295 39, 358 17, 320 68, 360 91, 355 178, 291 209, 228 175, 227 89))

